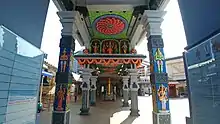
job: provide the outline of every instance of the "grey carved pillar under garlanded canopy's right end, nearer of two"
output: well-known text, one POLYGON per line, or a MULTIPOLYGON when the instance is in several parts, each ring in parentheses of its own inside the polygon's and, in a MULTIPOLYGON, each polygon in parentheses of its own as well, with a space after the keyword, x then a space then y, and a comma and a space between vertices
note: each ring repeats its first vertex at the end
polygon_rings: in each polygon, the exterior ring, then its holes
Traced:
POLYGON ((139 85, 137 82, 137 69, 129 69, 130 76, 131 76, 131 84, 130 84, 130 90, 131 90, 131 116, 140 116, 139 110, 138 110, 138 89, 139 85))

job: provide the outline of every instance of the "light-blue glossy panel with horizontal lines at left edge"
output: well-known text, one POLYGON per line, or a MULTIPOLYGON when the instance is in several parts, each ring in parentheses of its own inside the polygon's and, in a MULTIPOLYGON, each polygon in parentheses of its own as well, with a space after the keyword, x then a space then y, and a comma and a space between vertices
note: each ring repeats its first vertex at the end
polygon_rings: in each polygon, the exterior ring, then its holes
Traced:
POLYGON ((0 123, 34 124, 43 52, 0 27, 0 123))

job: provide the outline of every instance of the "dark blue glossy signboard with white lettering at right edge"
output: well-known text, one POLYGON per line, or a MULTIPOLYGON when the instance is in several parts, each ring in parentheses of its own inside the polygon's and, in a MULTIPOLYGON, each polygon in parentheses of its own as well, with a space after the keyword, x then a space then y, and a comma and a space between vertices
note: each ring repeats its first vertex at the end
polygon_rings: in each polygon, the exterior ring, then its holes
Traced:
POLYGON ((193 124, 220 121, 220 34, 186 53, 193 124))

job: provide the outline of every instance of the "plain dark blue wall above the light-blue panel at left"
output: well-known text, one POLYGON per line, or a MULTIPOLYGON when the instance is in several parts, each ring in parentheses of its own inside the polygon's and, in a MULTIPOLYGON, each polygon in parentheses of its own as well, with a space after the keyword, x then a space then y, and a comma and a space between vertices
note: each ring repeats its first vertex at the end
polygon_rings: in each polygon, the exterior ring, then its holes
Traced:
POLYGON ((49 0, 1 0, 0 25, 40 48, 49 0))

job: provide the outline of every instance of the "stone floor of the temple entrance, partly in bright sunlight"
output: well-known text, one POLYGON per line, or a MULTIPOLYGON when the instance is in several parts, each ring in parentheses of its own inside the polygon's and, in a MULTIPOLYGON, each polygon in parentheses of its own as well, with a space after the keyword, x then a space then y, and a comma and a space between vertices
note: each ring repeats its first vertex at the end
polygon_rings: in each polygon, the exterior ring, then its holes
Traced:
MULTIPOLYGON (((70 124, 152 124, 152 99, 148 96, 138 97, 139 117, 129 116, 130 108, 122 108, 121 101, 97 102, 96 107, 90 108, 89 116, 80 116, 80 103, 71 104, 70 124)), ((189 116, 188 99, 170 100, 172 124, 186 124, 185 117, 189 116)), ((40 114, 40 124, 50 124, 51 112, 40 114)))

